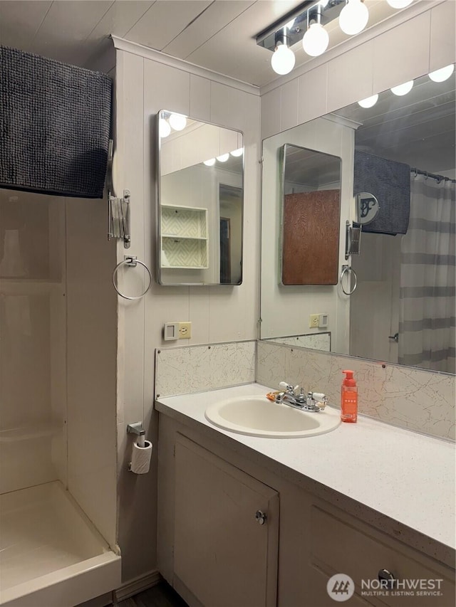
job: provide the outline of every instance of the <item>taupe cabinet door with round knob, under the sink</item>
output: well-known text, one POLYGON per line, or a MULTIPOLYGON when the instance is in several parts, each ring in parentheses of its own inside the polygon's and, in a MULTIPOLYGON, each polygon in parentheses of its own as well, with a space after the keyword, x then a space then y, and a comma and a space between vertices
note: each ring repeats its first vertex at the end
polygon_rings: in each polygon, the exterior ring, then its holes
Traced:
POLYGON ((174 571, 198 601, 275 606, 278 536, 279 494, 178 436, 174 571))

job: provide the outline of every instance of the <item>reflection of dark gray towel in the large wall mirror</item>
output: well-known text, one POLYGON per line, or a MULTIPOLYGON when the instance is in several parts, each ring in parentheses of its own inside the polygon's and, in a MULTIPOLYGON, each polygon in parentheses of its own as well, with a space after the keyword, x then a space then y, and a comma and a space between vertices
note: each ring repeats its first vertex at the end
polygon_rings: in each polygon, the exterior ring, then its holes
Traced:
POLYGON ((355 150, 353 194, 370 192, 380 206, 363 232, 405 234, 410 215, 410 167, 355 150))

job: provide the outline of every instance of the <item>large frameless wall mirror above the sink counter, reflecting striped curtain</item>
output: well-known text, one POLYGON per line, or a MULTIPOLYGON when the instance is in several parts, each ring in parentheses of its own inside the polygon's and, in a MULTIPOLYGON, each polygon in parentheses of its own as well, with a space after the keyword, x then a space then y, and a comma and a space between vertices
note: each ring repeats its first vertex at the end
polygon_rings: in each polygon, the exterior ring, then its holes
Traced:
MULTIPOLYGON (((437 82, 424 75, 406 94, 388 90, 269 137, 263 156, 261 339, 454 373, 454 71, 437 82), (281 284, 275 174, 284 144, 342 160, 338 274, 344 264, 356 271, 353 295, 340 283, 281 284), (373 194, 380 209, 362 227, 360 255, 346 260, 345 223, 356 222, 356 192, 373 194), (315 315, 327 326, 312 327, 315 315)), ((301 231, 311 237, 305 226, 301 231)))

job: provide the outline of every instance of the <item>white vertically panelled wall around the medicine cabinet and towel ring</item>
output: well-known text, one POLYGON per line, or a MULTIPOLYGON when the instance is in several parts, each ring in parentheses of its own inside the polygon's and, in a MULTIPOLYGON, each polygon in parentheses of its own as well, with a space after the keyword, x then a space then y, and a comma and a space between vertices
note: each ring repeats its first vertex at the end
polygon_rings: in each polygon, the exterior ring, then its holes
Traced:
MULTIPOLYGON (((157 437, 154 398, 155 349, 167 321, 190 320, 185 345, 257 337, 259 310, 259 95, 257 88, 172 60, 115 39, 115 189, 131 192, 131 248, 155 277, 155 117, 159 110, 184 113, 244 133, 244 277, 240 286, 166 287, 153 281, 138 302, 118 302, 118 526, 123 580, 155 568, 156 460, 148 475, 127 472, 131 440, 126 426, 144 421, 157 437), (165 61, 165 63, 163 63, 165 61)), ((126 251, 118 245, 118 261, 126 251)), ((132 270, 130 270, 130 273, 132 270)), ((140 270, 133 270, 141 281, 140 270)), ((122 277, 120 277, 122 278, 122 277)), ((133 281, 132 281, 133 282, 133 281)), ((140 289, 141 284, 129 285, 140 289)), ((182 342, 180 342, 182 344, 182 342)))

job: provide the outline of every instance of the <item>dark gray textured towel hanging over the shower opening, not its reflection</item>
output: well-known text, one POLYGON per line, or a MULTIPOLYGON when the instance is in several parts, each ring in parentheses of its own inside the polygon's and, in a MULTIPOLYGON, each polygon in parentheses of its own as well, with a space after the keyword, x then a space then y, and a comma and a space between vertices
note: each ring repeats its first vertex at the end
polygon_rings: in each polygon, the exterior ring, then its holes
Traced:
POLYGON ((107 75, 0 46, 0 186, 102 198, 107 75))

